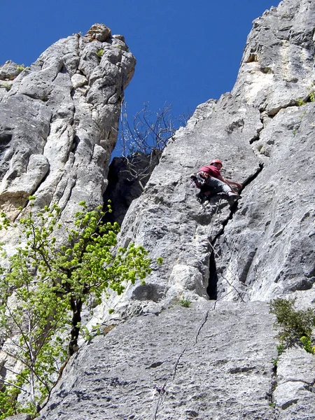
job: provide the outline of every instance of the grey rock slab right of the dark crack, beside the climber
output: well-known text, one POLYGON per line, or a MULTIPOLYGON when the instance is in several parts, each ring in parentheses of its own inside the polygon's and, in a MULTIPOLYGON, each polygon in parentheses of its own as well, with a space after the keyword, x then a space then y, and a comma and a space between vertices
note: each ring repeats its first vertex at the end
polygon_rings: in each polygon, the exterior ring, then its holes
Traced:
MULTIPOLYGON (((218 242, 223 276, 236 279, 246 298, 309 290, 315 281, 314 117, 315 104, 294 106, 262 130, 256 151, 264 169, 242 193, 239 211, 218 242)), ((224 280, 222 287, 228 287, 224 280)))

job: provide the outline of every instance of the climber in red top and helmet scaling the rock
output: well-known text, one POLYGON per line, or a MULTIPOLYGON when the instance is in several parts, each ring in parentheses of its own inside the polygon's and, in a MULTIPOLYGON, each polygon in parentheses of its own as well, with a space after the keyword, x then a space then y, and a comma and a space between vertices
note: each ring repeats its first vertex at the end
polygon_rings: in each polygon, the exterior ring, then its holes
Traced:
POLYGON ((204 191, 204 194, 209 195, 211 193, 225 193, 228 197, 231 197, 234 200, 239 200, 241 196, 233 190, 232 186, 241 188, 241 184, 235 181, 230 181, 230 179, 224 179, 220 172, 222 167, 223 165, 221 160, 214 159, 209 165, 199 169, 197 177, 204 179, 204 186, 209 187, 209 191, 204 191))

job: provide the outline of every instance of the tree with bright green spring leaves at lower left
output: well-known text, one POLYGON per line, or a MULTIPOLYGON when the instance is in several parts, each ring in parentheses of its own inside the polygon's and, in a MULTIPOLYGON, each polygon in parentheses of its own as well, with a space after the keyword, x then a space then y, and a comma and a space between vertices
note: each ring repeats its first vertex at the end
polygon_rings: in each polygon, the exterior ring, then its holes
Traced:
POLYGON ((57 205, 34 214, 34 197, 29 200, 29 211, 18 222, 1 214, 1 229, 13 225, 20 230, 20 245, 1 267, 0 281, 2 350, 18 360, 20 369, 2 381, 0 419, 20 410, 38 411, 60 364, 78 348, 81 310, 90 295, 96 300, 108 290, 120 295, 127 281, 144 281, 151 272, 142 246, 116 248, 119 226, 102 223, 100 207, 87 211, 81 202, 74 228, 67 228, 57 205), (57 240, 56 232, 64 238, 57 240), (26 408, 17 402, 21 392, 29 394, 26 408))

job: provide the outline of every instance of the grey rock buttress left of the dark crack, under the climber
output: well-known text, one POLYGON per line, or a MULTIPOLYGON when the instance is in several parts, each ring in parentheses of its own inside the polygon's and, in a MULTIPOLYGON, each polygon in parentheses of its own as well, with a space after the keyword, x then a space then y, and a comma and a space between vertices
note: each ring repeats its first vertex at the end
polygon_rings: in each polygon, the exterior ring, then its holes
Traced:
MULTIPOLYGON (((174 284, 174 266, 181 265, 181 279, 176 283, 178 290, 190 283, 190 298, 207 296, 211 242, 231 214, 230 204, 219 197, 204 206, 197 202, 197 191, 189 188, 191 172, 217 156, 224 162, 225 176, 241 183, 260 171, 260 158, 251 146, 262 129, 259 111, 229 94, 215 106, 204 104, 204 109, 207 118, 194 116, 165 149, 141 198, 132 203, 121 234, 125 242, 137 238, 153 259, 162 256, 163 265, 149 281, 165 290, 174 284), (199 274, 192 278, 192 271, 199 274)), ((173 294, 174 287, 169 290, 173 294)))

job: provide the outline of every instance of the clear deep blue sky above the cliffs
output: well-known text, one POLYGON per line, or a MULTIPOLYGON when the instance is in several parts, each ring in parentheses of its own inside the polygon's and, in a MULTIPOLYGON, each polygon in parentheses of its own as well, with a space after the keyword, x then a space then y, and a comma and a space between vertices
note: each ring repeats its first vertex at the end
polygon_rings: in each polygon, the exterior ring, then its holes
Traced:
POLYGON ((95 22, 123 34, 137 58, 129 113, 144 102, 174 116, 232 89, 251 22, 279 0, 15 0, 1 4, 0 64, 25 66, 95 22))

